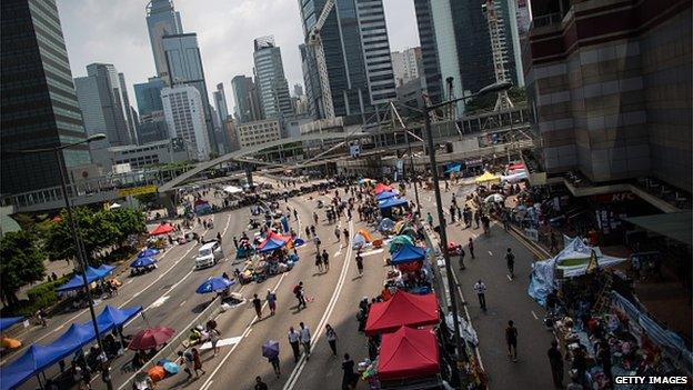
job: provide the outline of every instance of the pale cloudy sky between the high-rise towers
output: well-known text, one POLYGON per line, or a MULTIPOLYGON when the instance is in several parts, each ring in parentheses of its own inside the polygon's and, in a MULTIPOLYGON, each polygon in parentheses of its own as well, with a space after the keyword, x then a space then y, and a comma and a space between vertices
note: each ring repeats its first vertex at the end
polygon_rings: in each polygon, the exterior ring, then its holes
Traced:
MULTIPOLYGON (((207 88, 223 82, 233 111, 231 79, 252 76, 253 39, 273 34, 281 48, 289 89, 303 84, 299 44, 303 32, 299 0, 173 0, 184 32, 197 32, 207 88)), ((340 1, 340 0, 338 0, 340 1)), ((130 103, 132 84, 154 76, 147 31, 148 0, 58 0, 72 77, 87 74, 87 64, 113 63, 125 74, 130 103)), ((419 46, 413 0, 383 0, 392 51, 419 46)), ((212 97, 210 96, 210 101, 212 97)))

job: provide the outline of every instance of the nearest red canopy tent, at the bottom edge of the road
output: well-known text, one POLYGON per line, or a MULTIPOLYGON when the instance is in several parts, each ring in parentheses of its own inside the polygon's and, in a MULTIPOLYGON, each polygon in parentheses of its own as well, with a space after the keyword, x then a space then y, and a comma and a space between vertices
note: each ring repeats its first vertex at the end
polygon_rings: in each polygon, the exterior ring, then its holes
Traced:
POLYGON ((401 380, 440 372, 438 342, 432 329, 401 327, 383 334, 378 358, 380 380, 401 380))

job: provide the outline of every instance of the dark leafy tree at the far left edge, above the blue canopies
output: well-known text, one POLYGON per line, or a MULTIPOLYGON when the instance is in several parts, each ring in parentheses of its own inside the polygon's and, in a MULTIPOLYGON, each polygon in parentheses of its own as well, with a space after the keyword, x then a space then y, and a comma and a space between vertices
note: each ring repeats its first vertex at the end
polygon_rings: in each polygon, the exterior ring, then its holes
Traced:
POLYGON ((28 283, 41 281, 46 274, 46 253, 36 234, 21 230, 8 232, 0 240, 0 292, 2 301, 16 304, 17 291, 28 283))

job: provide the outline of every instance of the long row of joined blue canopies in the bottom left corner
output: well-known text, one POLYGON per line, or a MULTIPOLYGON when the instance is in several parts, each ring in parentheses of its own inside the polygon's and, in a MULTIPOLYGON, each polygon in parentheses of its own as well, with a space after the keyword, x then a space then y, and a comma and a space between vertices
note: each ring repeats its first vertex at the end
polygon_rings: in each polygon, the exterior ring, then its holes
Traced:
MULTIPOLYGON (((116 309, 107 306, 97 317, 99 333, 119 327, 137 316, 142 307, 116 309)), ((49 346, 32 344, 17 360, 0 368, 0 389, 13 389, 27 379, 46 370, 59 360, 72 354, 76 350, 94 340, 91 321, 73 323, 61 337, 49 346)))

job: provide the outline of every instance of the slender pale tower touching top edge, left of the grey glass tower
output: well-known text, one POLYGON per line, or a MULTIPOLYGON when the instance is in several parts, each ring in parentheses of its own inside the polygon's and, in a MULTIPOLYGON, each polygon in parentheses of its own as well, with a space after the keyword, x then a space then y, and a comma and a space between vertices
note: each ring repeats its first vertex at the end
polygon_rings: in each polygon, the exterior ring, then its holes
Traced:
POLYGON ((154 54, 157 74, 169 82, 169 68, 163 48, 163 37, 183 33, 180 12, 173 9, 172 0, 151 0, 147 4, 147 28, 154 54))

